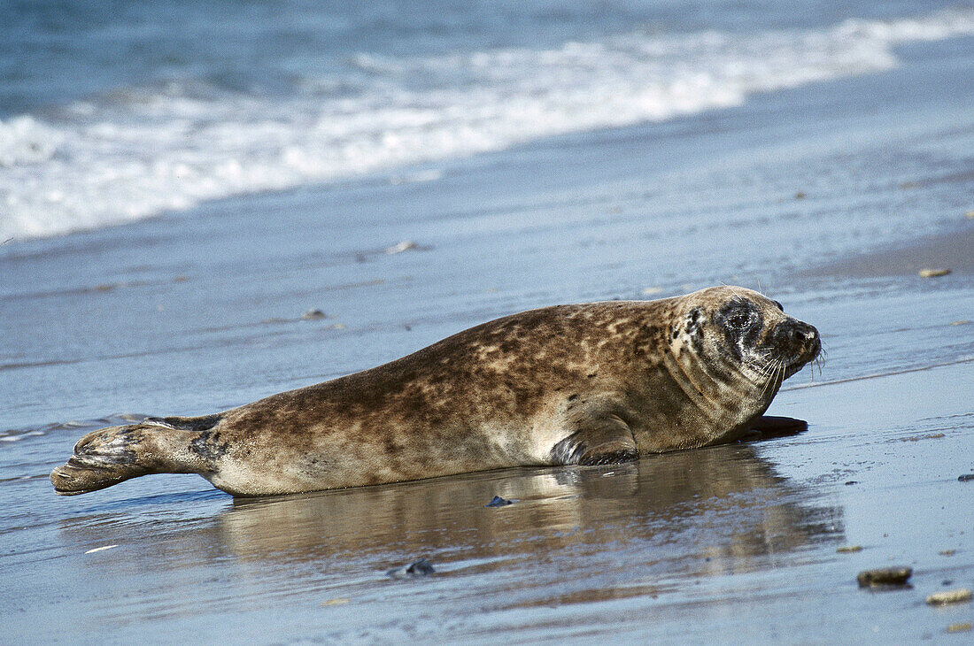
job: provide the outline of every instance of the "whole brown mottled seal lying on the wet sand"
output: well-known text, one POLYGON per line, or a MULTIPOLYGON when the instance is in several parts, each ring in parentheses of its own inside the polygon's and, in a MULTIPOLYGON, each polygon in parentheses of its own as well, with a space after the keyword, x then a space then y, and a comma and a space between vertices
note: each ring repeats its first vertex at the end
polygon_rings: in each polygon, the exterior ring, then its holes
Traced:
POLYGON ((94 431, 51 480, 75 494, 198 473, 265 495, 634 459, 747 433, 819 347, 738 287, 545 307, 225 413, 94 431))

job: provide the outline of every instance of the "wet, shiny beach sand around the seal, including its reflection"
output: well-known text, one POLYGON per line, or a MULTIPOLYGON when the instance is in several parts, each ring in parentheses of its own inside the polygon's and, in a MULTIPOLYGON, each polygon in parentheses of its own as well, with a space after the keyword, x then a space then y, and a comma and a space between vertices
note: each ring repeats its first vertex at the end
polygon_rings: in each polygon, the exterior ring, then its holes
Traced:
POLYGON ((974 89, 956 83, 974 60, 956 47, 0 247, 2 641, 969 639, 947 628, 970 603, 923 602, 974 587, 974 89), (820 374, 769 411, 805 433, 280 499, 193 476, 57 498, 48 481, 120 418, 211 413, 534 306, 719 282, 822 333, 820 374), (434 573, 388 576, 420 557, 434 573), (858 588, 892 565, 910 587, 858 588))

